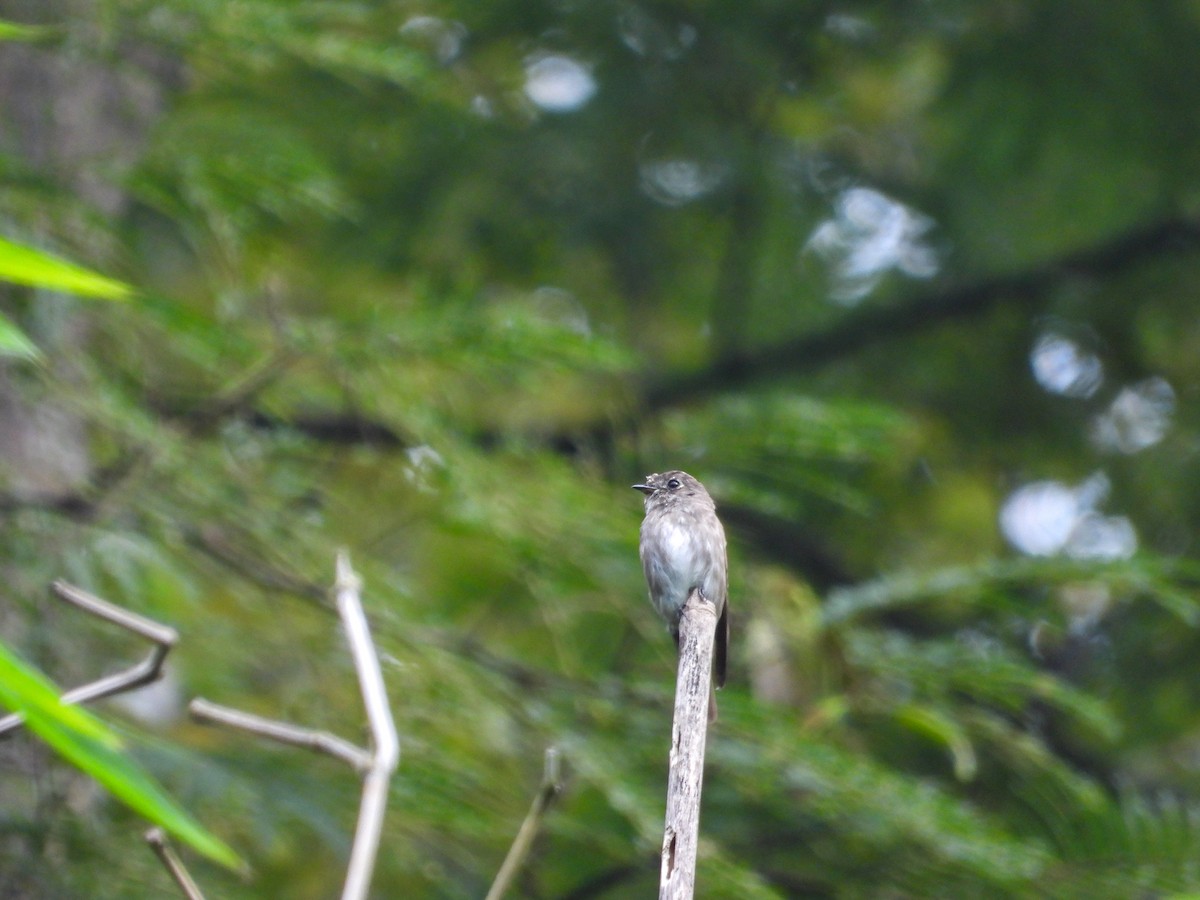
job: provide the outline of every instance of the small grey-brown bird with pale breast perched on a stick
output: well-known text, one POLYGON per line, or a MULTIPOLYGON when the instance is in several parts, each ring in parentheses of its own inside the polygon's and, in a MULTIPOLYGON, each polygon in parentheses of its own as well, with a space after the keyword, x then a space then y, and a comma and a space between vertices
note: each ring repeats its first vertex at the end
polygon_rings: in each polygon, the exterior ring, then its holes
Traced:
MULTIPOLYGON (((726 648, 730 641, 728 563, 725 529, 716 517, 716 504, 708 491, 686 472, 647 475, 646 484, 634 485, 646 494, 646 518, 638 551, 650 602, 667 622, 679 646, 679 617, 694 589, 716 606, 716 637, 713 644, 713 679, 725 686, 726 648)), ((708 695, 708 718, 716 718, 716 700, 708 695)))

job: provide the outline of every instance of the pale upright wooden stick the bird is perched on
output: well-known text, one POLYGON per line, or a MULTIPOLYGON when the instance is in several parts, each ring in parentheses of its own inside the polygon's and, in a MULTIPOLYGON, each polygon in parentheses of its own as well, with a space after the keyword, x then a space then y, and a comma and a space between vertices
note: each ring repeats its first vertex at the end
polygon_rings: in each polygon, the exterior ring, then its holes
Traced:
POLYGON ((659 900, 690 900, 696 884, 700 791, 704 782, 708 700, 713 690, 716 607, 692 590, 679 619, 679 676, 671 727, 667 822, 662 835, 659 900))

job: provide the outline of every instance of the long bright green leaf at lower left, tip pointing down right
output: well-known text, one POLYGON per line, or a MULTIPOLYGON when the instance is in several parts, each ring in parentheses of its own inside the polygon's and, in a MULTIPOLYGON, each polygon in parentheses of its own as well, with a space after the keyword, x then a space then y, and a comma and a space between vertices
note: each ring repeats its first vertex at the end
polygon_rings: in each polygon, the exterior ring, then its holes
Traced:
POLYGON ((2 643, 0 703, 24 715, 30 731, 134 812, 222 865, 242 865, 229 846, 205 830, 122 752, 115 732, 85 709, 64 703, 49 680, 2 643))

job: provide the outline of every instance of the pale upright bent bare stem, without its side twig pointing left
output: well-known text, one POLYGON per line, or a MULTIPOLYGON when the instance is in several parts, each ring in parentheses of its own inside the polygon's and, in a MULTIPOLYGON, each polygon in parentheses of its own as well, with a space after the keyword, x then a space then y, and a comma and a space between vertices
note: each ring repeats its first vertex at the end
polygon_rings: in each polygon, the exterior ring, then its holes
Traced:
POLYGON ((396 724, 388 706, 388 691, 379 668, 379 658, 371 640, 367 617, 359 600, 361 582, 350 569, 350 560, 343 551, 337 554, 337 613, 346 628, 346 638, 359 673, 359 688, 362 691, 362 703, 366 707, 367 721, 374 749, 371 764, 362 778, 362 803, 359 806, 359 824, 354 834, 354 846, 350 850, 350 864, 346 870, 346 884, 342 888, 342 900, 361 900, 366 898, 374 871, 376 853, 379 850, 379 834, 383 829, 383 814, 388 808, 388 788, 391 774, 400 764, 400 738, 396 724))

